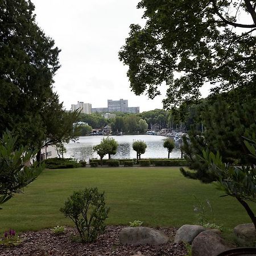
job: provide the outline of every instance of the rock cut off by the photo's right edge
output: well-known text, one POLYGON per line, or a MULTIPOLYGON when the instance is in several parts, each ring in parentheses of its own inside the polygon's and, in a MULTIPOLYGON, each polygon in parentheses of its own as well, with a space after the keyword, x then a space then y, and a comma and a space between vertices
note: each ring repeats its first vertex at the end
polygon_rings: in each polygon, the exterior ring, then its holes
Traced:
POLYGON ((240 224, 236 226, 233 233, 241 242, 254 242, 256 240, 256 232, 253 223, 240 224))

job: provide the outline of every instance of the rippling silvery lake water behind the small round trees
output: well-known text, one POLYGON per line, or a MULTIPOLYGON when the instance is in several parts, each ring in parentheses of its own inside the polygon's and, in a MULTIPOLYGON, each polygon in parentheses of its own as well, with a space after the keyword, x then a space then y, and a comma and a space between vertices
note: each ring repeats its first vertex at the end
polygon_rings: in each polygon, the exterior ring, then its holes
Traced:
MULTIPOLYGON (((65 144, 67 153, 64 155, 67 158, 84 159, 100 157, 93 151, 93 146, 99 144, 105 136, 89 136, 79 137, 77 142, 65 144)), ((142 158, 167 158, 168 151, 163 147, 163 140, 167 137, 155 135, 122 135, 110 136, 118 142, 117 154, 112 155, 112 159, 136 158, 136 152, 133 150, 134 141, 144 141, 147 144, 146 152, 142 158)), ((170 154, 170 158, 180 158, 180 142, 175 142, 175 148, 170 154)), ((108 156, 104 156, 107 159, 108 156)))

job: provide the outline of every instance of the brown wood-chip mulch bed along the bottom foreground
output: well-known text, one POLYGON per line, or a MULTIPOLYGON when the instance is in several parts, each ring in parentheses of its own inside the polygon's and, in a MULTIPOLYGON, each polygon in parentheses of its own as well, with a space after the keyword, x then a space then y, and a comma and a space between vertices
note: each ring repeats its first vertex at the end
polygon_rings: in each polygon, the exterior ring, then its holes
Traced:
POLYGON ((20 234, 23 242, 15 247, 0 246, 0 255, 16 256, 130 256, 138 252, 145 256, 186 255, 184 245, 176 245, 174 237, 177 229, 157 228, 170 237, 170 242, 162 246, 123 246, 119 243, 119 232, 124 226, 108 226, 106 232, 94 243, 78 243, 71 240, 76 235, 74 228, 66 228, 63 234, 56 236, 52 230, 24 232, 20 234))

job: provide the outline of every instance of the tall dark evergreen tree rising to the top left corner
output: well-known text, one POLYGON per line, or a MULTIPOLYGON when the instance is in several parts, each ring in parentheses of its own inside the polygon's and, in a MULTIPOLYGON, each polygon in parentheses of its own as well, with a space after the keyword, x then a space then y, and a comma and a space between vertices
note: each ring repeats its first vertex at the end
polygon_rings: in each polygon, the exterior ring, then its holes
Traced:
MULTIPOLYGON (((38 27, 30 0, 0 1, 0 135, 38 147, 46 138, 43 108, 52 97, 60 50, 38 27)), ((38 147, 39 148, 39 147, 38 147)))

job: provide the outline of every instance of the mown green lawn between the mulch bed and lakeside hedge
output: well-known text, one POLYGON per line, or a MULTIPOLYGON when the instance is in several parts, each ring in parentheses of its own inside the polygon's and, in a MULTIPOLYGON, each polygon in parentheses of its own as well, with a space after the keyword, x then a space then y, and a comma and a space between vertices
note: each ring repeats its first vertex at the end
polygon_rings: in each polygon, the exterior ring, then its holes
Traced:
MULTIPOLYGON (((216 223, 226 229, 250 222, 245 210, 231 197, 222 195, 213 184, 202 184, 180 174, 179 168, 127 167, 45 170, 23 194, 2 205, 0 232, 39 230, 72 225, 59 209, 71 193, 85 187, 105 191, 110 207, 108 224, 141 220, 148 226, 193 224, 195 199, 210 200, 216 223)), ((254 210, 256 207, 254 207, 254 210)))

